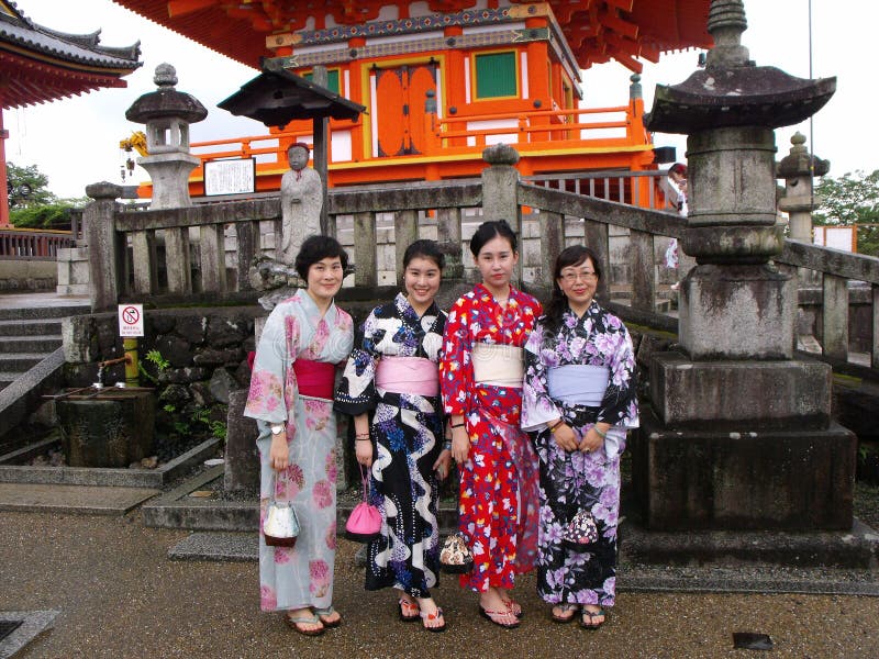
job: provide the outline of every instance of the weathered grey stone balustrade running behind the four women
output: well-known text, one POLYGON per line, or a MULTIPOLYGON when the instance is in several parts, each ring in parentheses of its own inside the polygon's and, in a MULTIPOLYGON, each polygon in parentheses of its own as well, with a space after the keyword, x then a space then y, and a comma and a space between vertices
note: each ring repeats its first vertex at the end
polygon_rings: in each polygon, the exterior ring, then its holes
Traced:
MULTIPOLYGON (((509 165, 487 171, 498 167, 509 165)), ((114 196, 115 187, 109 188, 103 193, 114 196)), ((99 197, 86 210, 87 228, 99 234, 89 238, 94 311, 114 309, 120 301, 173 304, 193 297, 202 302, 258 297, 247 270, 255 256, 275 254, 274 236, 280 233, 277 198, 136 212, 107 201, 99 197)), ((329 204, 331 231, 354 257, 355 271, 345 286, 360 289, 358 295, 368 294, 364 289, 392 284, 399 275, 396 264, 416 237, 441 243, 449 260, 447 276, 471 280, 469 235, 485 217, 505 216, 520 230, 525 286, 548 287, 556 255, 565 245, 582 242, 602 261, 607 276, 599 295, 605 302, 630 322, 677 331, 661 266, 668 238, 682 238, 686 227, 674 213, 568 192, 543 181, 524 182, 518 175, 338 188, 330 190, 329 204), (487 212, 483 200, 496 210, 487 212)), ((867 361, 876 369, 879 259, 786 241, 774 260, 791 271, 823 275, 821 300, 815 291, 800 293, 801 316, 808 321, 800 333, 813 334, 826 357, 836 361, 848 359, 849 336, 857 335, 858 351, 869 348, 867 361), (849 294, 850 281, 864 283, 849 294), (848 311, 849 301, 857 304, 857 313, 848 311), (849 316, 868 327, 853 332, 849 316)))

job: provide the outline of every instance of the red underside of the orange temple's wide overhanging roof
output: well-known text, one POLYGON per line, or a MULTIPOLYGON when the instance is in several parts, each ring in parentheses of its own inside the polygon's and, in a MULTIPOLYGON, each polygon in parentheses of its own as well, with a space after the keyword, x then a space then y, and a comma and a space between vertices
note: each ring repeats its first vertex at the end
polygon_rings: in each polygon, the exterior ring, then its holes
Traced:
MULTIPOLYGON (((382 7, 396 7, 400 19, 424 0, 113 0, 218 53, 256 67, 274 56, 266 37, 334 25, 358 25, 387 19, 382 7)), ((437 14, 507 4, 546 4, 581 68, 616 59, 639 71, 636 59, 658 62, 664 52, 710 47, 710 0, 427 0, 437 14)))

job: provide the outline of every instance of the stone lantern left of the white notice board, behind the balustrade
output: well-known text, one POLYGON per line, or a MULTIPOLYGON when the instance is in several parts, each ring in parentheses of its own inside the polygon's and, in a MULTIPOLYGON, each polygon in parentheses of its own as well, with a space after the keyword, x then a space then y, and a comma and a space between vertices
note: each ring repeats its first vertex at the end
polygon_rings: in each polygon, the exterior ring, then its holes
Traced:
POLYGON ((189 124, 208 116, 198 99, 177 91, 177 71, 170 64, 159 64, 153 78, 156 91, 143 94, 125 111, 125 119, 146 124, 148 156, 137 164, 153 180, 151 209, 192 205, 189 175, 200 159, 189 153, 189 124))

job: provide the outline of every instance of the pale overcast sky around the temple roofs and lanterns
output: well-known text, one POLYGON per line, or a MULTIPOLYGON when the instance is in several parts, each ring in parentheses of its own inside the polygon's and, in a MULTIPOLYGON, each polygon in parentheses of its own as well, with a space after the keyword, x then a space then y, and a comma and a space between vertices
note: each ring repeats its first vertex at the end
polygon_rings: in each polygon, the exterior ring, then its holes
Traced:
MULTIPOLYGON (((101 43, 126 46, 141 41, 143 67, 125 78, 125 89, 103 89, 82 97, 4 112, 7 159, 16 165, 35 164, 49 177, 49 189, 60 197, 81 197, 88 183, 122 182, 123 156, 119 141, 138 124, 125 120, 125 110, 142 93, 155 89, 156 65, 177 68, 177 89, 198 98, 208 119, 190 129, 192 142, 243 135, 263 135, 266 129, 252 120, 235 118, 216 103, 254 77, 257 71, 218 55, 111 0, 16 0, 16 7, 36 23, 68 33, 102 30, 101 43)), ((743 42, 760 66, 777 66, 809 77, 809 0, 745 0, 748 30, 743 42)), ((879 138, 874 125, 876 65, 871 44, 879 24, 879 3, 861 0, 812 0, 812 75, 837 77, 837 91, 815 115, 813 144, 817 156, 831 160, 831 176, 879 168, 879 138)), ((645 62, 642 85, 647 108, 657 83, 677 85, 694 69, 693 51, 666 55, 658 65, 645 62)), ((587 107, 624 103, 631 71, 611 63, 583 71, 587 107)), ((810 137, 806 122, 780 129, 779 157, 787 155, 795 130, 810 137)), ((657 145, 678 147, 683 159, 685 138, 656 135, 657 145)), ((812 142, 810 139, 810 142, 812 142)), ((146 179, 142 169, 135 179, 146 179)), ((126 182, 132 182, 131 180, 126 182)))

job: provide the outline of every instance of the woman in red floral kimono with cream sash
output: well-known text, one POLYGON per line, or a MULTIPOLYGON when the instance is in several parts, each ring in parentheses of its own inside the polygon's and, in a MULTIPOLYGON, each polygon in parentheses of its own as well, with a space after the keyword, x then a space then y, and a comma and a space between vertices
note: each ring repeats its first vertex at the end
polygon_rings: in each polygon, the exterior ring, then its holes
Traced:
POLYGON ((522 607, 509 591, 534 569, 537 548, 536 456, 519 416, 522 346, 542 308, 510 284, 519 253, 505 221, 483 222, 470 252, 482 282, 452 306, 439 361, 460 469, 458 527, 474 555, 460 583, 479 593, 480 615, 512 628, 522 607))

